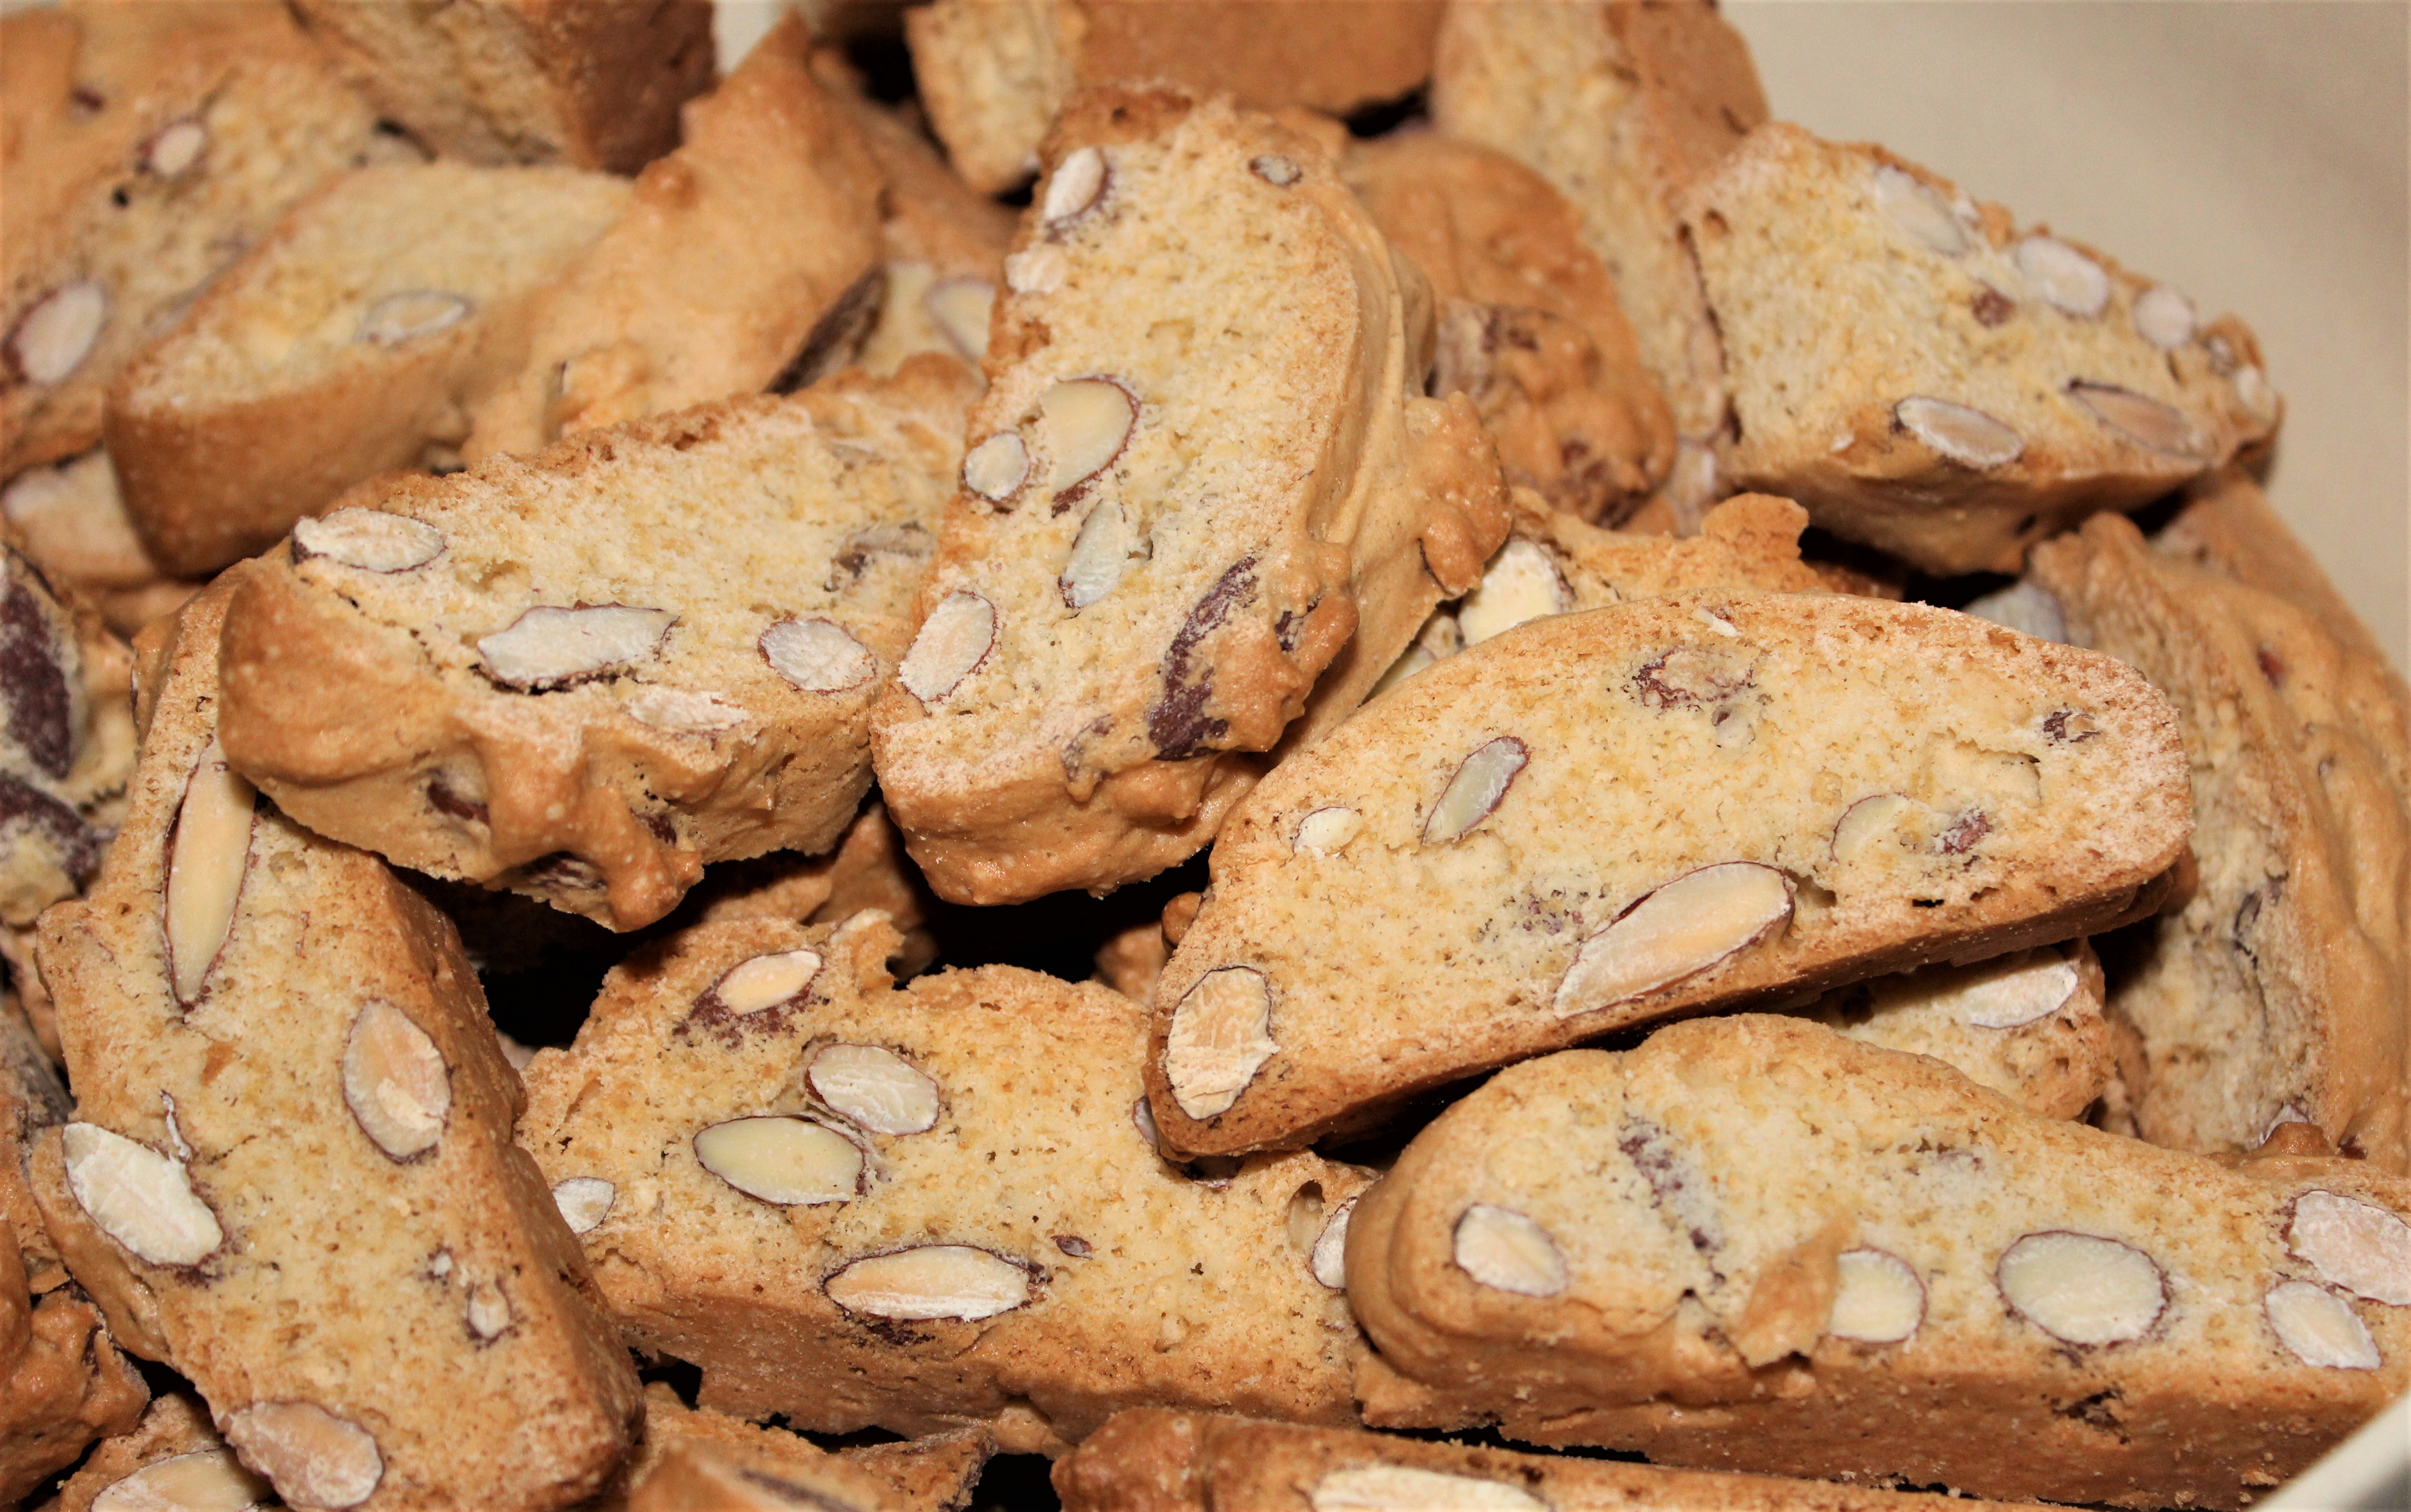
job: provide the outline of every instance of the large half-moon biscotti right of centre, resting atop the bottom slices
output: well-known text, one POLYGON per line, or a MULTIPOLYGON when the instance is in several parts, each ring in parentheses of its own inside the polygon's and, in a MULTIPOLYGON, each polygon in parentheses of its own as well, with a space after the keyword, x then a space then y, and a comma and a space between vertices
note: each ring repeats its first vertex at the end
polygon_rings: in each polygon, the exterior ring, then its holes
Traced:
POLYGON ((1254 791, 1155 989, 1184 1153, 1300 1145, 1673 1013, 2139 916, 2189 827, 2107 656, 1840 593, 1521 625, 1254 791))

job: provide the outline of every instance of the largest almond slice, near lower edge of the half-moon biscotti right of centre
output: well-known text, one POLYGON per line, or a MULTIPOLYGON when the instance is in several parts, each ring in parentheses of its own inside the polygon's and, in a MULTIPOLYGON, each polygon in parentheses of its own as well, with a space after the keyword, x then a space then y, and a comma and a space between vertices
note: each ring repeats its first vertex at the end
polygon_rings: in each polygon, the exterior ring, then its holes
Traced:
POLYGON ((1582 940, 1550 1008, 1565 1018, 1673 986, 1767 938, 1789 916, 1791 880, 1772 866, 1702 866, 1582 940))

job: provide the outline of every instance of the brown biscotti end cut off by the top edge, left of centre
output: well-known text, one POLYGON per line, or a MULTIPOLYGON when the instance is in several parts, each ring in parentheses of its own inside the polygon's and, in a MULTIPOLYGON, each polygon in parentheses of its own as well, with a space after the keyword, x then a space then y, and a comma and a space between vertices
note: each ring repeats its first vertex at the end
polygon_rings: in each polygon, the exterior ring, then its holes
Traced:
POLYGON ((473 164, 634 174, 711 87, 709 0, 297 0, 335 68, 410 135, 473 164))

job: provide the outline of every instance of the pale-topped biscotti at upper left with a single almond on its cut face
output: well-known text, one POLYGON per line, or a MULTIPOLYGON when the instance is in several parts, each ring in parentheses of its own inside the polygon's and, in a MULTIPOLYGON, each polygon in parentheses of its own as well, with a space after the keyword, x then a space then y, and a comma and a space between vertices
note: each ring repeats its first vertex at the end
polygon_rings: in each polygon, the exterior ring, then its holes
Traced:
POLYGON ((362 477, 456 456, 547 285, 629 205, 576 169, 362 169, 309 195, 108 386, 152 562, 205 576, 362 477))

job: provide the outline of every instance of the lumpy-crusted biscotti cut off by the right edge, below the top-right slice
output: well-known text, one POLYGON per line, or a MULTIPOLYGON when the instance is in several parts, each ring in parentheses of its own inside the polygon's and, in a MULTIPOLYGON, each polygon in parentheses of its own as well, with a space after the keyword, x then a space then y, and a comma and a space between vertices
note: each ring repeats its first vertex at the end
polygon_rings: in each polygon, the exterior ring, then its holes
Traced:
POLYGON ((2315 613, 2153 552, 2117 516, 2037 547, 2028 584, 2069 639, 2167 695, 2192 762, 2194 895, 2110 998, 2141 1035, 2136 1133, 2249 1150, 2305 1121, 2411 1170, 2401 680, 2315 613))

